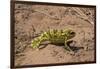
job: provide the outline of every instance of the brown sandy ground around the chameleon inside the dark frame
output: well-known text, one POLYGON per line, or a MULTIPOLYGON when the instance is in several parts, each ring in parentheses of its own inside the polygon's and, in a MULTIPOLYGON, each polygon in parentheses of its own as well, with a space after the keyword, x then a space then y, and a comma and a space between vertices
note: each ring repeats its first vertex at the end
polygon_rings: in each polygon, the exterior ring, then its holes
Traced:
POLYGON ((15 66, 94 61, 94 24, 93 8, 15 4, 15 66), (31 41, 49 29, 74 30, 75 55, 60 45, 33 49, 31 41))

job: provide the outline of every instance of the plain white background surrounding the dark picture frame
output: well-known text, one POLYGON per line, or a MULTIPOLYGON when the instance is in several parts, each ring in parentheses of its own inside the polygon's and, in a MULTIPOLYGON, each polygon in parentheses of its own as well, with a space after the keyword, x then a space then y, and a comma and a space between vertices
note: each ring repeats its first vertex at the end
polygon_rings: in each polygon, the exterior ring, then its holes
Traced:
MULTIPOLYGON (((97 7, 97 63, 39 67, 34 69, 98 69, 100 67, 100 0, 24 0, 67 4, 96 5, 97 7)), ((10 67, 10 0, 0 2, 0 69, 10 67)))

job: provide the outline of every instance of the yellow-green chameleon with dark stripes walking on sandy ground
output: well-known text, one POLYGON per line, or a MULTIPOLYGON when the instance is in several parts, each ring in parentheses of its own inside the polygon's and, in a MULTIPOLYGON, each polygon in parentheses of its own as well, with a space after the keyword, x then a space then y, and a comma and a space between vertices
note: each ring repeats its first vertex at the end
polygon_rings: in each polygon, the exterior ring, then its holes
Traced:
POLYGON ((69 39, 75 36, 75 32, 66 29, 66 30, 57 30, 50 29, 47 32, 43 32, 39 37, 34 38, 32 40, 32 47, 39 48, 40 44, 44 41, 49 41, 52 44, 64 44, 64 48, 69 52, 73 52, 73 50, 67 45, 69 39))

